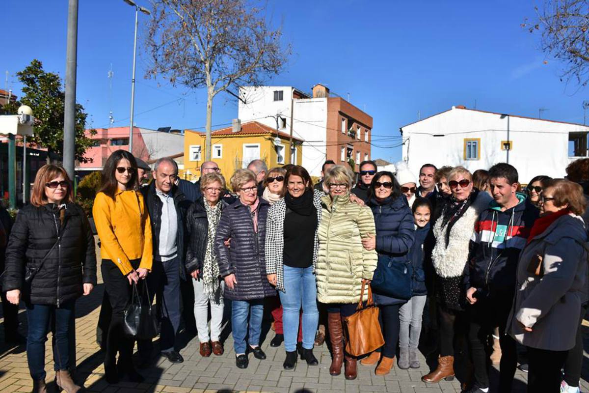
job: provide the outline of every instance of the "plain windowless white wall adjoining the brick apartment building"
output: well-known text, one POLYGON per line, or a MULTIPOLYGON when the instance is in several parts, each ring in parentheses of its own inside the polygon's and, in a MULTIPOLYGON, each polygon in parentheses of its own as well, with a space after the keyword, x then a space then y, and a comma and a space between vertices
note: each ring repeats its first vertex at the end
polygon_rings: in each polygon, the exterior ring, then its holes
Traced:
POLYGON ((321 176, 326 157, 327 98, 294 100, 293 135, 303 142, 303 167, 321 176))

